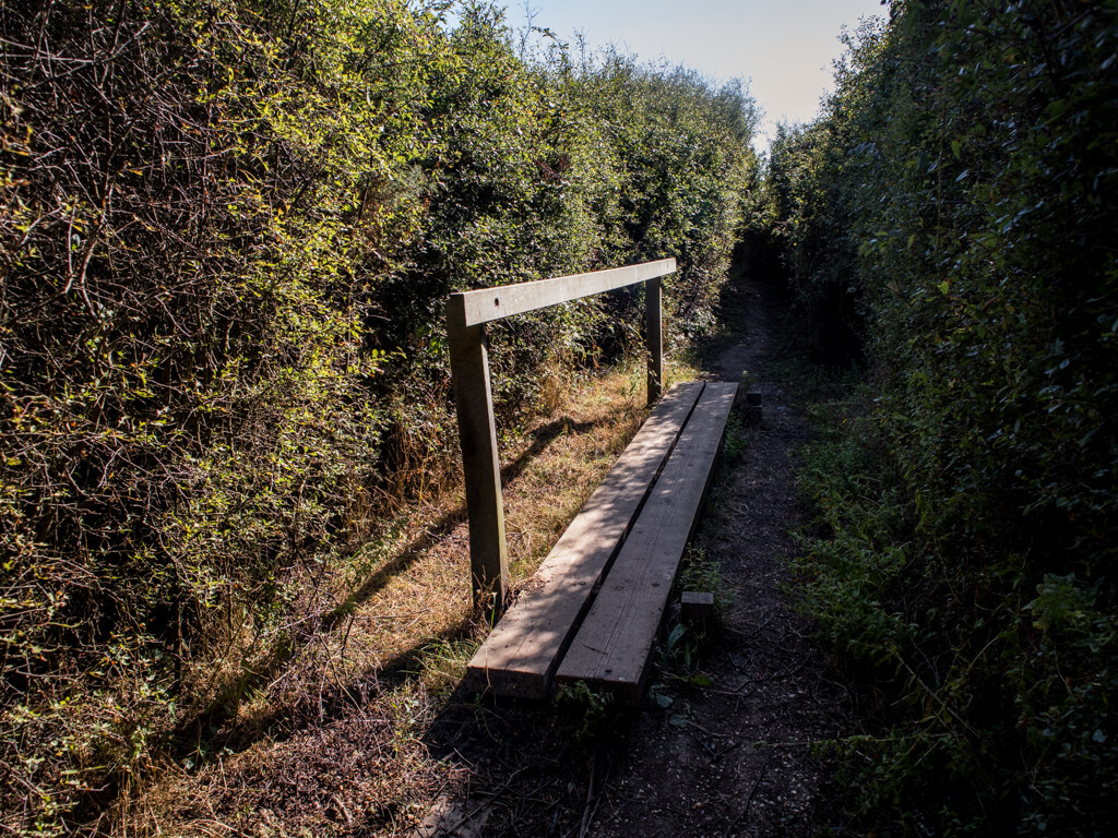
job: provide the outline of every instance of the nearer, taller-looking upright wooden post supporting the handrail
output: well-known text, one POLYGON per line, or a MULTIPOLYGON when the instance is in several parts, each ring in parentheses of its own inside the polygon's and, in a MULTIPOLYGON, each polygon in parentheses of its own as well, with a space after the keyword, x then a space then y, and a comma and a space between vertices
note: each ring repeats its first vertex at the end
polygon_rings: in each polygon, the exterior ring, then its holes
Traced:
POLYGON ((459 326, 448 317, 451 379, 458 410, 462 468, 470 517, 470 570, 474 606, 500 613, 509 589, 501 465, 484 325, 459 326))

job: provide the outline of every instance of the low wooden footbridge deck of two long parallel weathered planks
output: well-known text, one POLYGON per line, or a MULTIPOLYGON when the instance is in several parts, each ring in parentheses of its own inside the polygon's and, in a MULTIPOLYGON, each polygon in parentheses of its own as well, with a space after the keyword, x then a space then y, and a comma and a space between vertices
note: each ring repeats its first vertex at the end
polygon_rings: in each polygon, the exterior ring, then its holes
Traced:
POLYGON ((736 392, 672 388, 474 655, 468 688, 539 699, 586 680, 636 701, 736 392))

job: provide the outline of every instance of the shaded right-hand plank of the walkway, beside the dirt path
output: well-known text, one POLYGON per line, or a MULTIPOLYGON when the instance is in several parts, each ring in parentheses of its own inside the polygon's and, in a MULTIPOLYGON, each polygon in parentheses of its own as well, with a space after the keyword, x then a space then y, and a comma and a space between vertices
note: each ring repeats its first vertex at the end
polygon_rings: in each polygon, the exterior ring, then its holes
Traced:
POLYGON ((636 703, 680 559, 710 485, 737 384, 707 384, 556 674, 636 703))

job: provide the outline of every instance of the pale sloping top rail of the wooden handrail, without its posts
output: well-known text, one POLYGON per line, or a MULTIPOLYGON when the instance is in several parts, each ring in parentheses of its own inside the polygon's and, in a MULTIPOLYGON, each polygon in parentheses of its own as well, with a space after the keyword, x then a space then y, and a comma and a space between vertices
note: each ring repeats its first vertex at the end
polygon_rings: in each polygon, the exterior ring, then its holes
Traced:
POLYGON ((657 259, 589 274, 557 276, 534 283, 462 292, 452 294, 447 301, 446 318, 452 327, 476 326, 511 314, 523 314, 557 303, 568 303, 591 294, 633 285, 671 274, 673 270, 675 270, 675 259, 657 259))

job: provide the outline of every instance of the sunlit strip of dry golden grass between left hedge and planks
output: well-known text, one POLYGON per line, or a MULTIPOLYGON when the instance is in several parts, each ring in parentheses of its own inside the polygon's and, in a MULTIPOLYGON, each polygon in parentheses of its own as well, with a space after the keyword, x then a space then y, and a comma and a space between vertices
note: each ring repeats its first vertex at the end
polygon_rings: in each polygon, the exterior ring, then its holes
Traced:
MULTIPOLYGON (((670 368, 667 383, 695 371, 670 368)), ((504 432, 513 587, 547 555, 647 410, 644 370, 556 382, 504 432), (558 385, 566 385, 566 392, 558 385)), ((432 482, 430 485, 435 485, 432 482)), ((201 768, 168 766, 122 798, 117 835, 407 835, 462 781, 423 735, 484 634, 470 609, 462 487, 401 507, 330 584, 348 603, 241 702, 201 768)), ((217 736, 214 737, 215 742, 217 736)))

